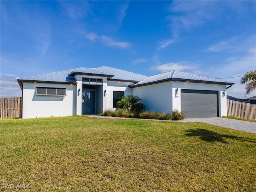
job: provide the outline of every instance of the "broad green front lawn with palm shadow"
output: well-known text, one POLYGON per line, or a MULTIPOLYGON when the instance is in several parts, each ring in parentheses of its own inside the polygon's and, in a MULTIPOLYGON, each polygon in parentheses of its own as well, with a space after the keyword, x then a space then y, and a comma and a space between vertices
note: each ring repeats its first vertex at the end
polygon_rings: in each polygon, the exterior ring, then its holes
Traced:
POLYGON ((0 125, 0 184, 31 184, 21 191, 256 191, 256 134, 87 116, 0 125))

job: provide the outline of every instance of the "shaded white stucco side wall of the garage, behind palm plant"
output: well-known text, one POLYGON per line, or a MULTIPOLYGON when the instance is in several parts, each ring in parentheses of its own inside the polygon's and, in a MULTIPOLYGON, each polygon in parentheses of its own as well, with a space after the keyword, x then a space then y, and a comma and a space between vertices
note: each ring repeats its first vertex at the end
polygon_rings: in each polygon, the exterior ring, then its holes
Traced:
POLYGON ((133 88, 133 94, 142 98, 145 109, 156 112, 172 112, 172 84, 164 82, 133 88))

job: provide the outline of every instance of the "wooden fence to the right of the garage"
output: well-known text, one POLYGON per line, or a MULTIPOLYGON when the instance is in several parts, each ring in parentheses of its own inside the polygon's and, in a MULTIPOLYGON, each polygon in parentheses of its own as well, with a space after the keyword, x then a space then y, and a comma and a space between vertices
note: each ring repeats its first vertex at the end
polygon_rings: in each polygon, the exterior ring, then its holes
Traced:
POLYGON ((256 104, 227 99, 228 116, 256 120, 256 104))

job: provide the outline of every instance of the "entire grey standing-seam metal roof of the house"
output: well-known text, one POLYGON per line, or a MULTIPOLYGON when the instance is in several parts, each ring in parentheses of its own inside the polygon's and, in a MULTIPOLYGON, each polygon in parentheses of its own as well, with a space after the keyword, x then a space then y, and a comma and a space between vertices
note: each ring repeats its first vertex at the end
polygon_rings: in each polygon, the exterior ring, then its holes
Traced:
POLYGON ((22 81, 28 82, 54 82, 54 83, 69 83, 76 82, 74 76, 76 74, 84 74, 84 75, 99 75, 99 76, 107 76, 108 80, 122 80, 128 82, 136 82, 135 84, 129 85, 130 87, 137 86, 145 86, 148 84, 155 84, 166 81, 189 81, 189 82, 205 82, 211 84, 225 84, 231 85, 234 83, 224 82, 214 78, 208 78, 199 76, 196 74, 191 74, 187 72, 181 72, 177 70, 153 75, 153 76, 145 76, 113 67, 102 66, 98 68, 75 68, 69 70, 63 70, 48 74, 42 74, 32 77, 20 78, 18 79, 19 84, 22 84, 22 81))

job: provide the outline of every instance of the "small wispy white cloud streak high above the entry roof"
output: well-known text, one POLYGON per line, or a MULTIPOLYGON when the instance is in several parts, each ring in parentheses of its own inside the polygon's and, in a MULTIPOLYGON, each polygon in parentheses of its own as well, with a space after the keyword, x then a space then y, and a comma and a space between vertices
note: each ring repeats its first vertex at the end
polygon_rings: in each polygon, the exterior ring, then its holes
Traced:
POLYGON ((92 32, 88 33, 85 37, 90 41, 95 42, 96 40, 99 40, 106 46, 113 46, 121 49, 126 49, 131 46, 130 42, 115 41, 111 37, 104 36, 104 35, 98 36, 96 33, 92 33, 92 32))

